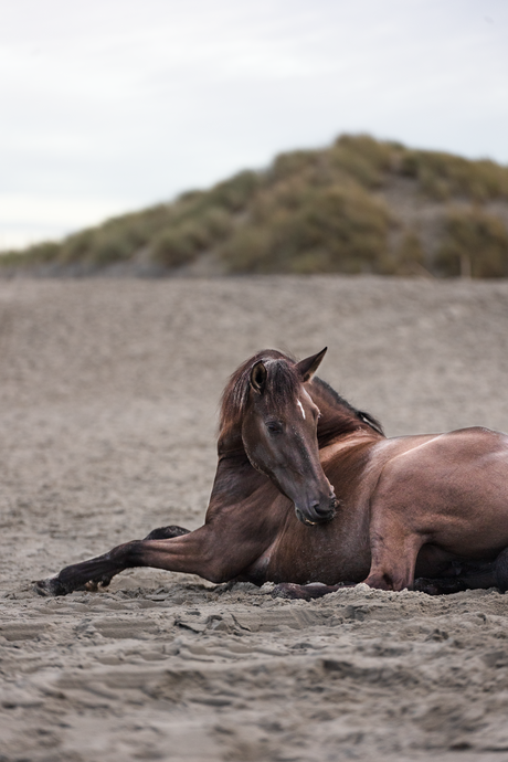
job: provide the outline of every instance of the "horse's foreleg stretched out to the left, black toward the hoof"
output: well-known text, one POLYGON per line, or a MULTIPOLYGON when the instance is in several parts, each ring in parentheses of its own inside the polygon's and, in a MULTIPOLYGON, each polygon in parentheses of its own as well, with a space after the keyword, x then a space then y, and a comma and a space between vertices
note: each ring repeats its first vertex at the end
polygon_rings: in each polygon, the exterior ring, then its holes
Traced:
POLYGON ((207 526, 172 539, 134 540, 103 555, 65 567, 55 576, 36 582, 35 589, 41 595, 66 595, 73 590, 96 589, 134 567, 187 572, 211 582, 225 582, 237 572, 230 572, 224 559, 214 552, 216 544, 207 526))

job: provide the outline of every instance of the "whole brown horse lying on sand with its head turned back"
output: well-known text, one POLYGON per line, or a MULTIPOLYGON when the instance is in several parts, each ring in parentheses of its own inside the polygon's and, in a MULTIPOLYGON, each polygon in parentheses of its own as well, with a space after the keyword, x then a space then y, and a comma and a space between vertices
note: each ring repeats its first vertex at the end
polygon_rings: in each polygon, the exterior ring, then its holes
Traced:
POLYGON ((272 581, 305 599, 358 582, 506 591, 508 436, 463 428, 388 440, 314 377, 325 351, 300 362, 262 351, 232 375, 202 527, 156 529, 38 591, 97 589, 131 567, 272 581))

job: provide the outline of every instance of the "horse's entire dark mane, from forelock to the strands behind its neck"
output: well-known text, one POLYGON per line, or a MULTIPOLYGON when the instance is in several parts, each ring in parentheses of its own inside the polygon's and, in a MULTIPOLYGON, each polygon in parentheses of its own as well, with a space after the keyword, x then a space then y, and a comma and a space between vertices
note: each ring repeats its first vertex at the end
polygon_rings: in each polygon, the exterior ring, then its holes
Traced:
MULTIPOLYGON (((260 360, 263 361, 266 368, 265 394, 267 395, 268 403, 277 408, 288 400, 296 401, 301 379, 295 370, 296 361, 294 358, 276 349, 264 349, 256 352, 256 354, 245 360, 245 362, 234 371, 224 389, 221 400, 219 423, 220 440, 225 440, 229 435, 239 433, 248 402, 251 371, 260 360)), ((378 434, 384 436, 381 424, 373 415, 353 408, 347 400, 340 396, 335 389, 326 383, 326 381, 315 377, 313 383, 316 385, 316 391, 319 390, 329 399, 331 408, 338 408, 340 412, 346 413, 349 424, 348 427, 353 428, 358 426, 358 423, 363 423, 373 428, 378 434)), ((330 424, 331 427, 335 427, 337 422, 335 422, 335 424, 330 422, 330 424)), ((330 435, 332 434, 331 427, 329 432, 330 435)), ((322 434, 325 438, 328 438, 325 431, 322 434)))

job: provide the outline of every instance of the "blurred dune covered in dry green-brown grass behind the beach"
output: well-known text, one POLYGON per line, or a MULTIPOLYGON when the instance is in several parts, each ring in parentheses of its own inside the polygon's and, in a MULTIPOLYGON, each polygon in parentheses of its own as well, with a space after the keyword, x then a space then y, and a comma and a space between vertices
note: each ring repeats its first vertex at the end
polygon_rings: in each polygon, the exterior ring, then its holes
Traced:
POLYGON ((367 135, 3 255, 83 274, 508 276, 508 167, 367 135))

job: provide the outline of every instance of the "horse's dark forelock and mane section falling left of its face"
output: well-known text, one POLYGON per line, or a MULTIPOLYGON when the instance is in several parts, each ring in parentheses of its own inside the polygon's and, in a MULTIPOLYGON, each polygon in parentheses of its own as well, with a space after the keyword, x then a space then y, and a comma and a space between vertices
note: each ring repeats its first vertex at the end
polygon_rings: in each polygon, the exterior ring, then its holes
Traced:
POLYGON ((221 438, 241 425, 248 401, 251 371, 261 360, 266 368, 265 394, 268 403, 278 406, 288 400, 296 400, 301 379, 295 370, 295 360, 276 349, 256 352, 234 371, 222 393, 219 423, 221 438))

